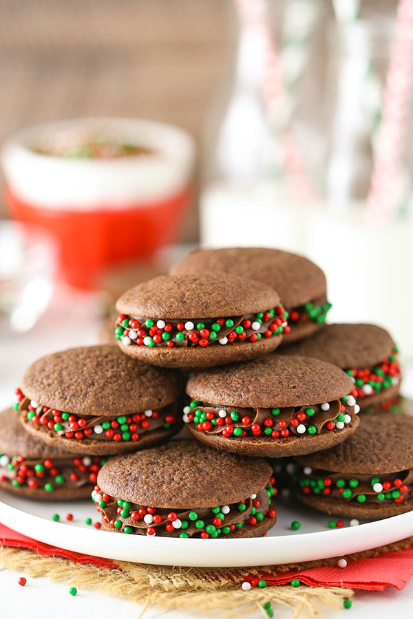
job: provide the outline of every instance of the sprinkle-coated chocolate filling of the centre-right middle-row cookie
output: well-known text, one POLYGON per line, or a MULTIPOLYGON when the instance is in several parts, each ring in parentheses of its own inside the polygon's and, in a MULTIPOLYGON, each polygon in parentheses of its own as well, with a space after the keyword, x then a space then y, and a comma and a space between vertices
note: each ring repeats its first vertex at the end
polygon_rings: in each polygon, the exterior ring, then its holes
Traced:
POLYGON ((230 406, 211 406, 192 400, 183 409, 183 421, 193 423, 200 432, 220 433, 223 437, 242 438, 247 435, 265 435, 286 438, 290 435, 318 434, 342 430, 352 422, 352 414, 359 412, 353 395, 335 402, 313 406, 274 407, 272 409, 231 410, 230 406), (328 417, 331 417, 330 419, 328 417))

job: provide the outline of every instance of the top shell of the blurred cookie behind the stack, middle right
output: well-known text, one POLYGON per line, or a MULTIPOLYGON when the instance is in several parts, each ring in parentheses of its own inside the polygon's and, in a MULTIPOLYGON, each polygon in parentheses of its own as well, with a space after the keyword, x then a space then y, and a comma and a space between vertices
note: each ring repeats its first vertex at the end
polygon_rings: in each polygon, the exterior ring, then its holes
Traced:
POLYGON ((388 358, 393 349, 390 334, 377 325, 334 324, 280 352, 315 357, 347 369, 375 365, 388 358))

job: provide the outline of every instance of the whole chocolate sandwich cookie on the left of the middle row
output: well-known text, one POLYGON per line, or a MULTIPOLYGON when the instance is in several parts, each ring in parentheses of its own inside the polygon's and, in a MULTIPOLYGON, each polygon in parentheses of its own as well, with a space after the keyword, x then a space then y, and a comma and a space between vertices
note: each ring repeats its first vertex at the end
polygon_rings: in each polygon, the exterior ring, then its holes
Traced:
POLYGON ((28 432, 56 448, 113 454, 161 442, 182 422, 182 378, 110 345, 72 348, 34 362, 17 389, 28 432))

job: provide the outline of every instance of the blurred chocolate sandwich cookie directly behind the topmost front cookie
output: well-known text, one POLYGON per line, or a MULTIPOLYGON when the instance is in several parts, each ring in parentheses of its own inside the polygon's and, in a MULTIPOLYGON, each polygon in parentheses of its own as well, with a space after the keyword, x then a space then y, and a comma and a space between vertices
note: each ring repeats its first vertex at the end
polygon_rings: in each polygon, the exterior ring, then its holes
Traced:
POLYGON ((317 331, 331 307, 324 272, 297 254, 256 247, 195 250, 171 268, 180 275, 207 271, 249 277, 277 290, 289 315, 283 343, 317 331))

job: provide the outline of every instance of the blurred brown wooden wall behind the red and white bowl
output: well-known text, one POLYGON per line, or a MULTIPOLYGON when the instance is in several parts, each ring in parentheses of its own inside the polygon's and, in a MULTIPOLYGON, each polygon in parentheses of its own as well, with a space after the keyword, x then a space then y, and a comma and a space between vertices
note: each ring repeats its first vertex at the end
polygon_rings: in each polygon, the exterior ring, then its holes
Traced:
MULTIPOLYGON (((228 33, 226 0, 0 0, 0 141, 107 115, 173 122, 199 144, 228 33)), ((194 206, 182 238, 197 233, 194 206)))

